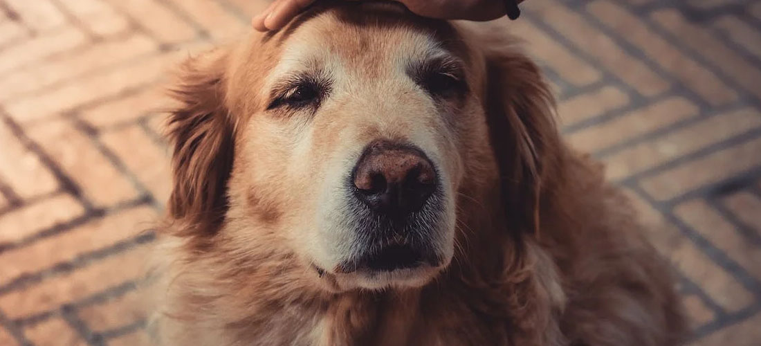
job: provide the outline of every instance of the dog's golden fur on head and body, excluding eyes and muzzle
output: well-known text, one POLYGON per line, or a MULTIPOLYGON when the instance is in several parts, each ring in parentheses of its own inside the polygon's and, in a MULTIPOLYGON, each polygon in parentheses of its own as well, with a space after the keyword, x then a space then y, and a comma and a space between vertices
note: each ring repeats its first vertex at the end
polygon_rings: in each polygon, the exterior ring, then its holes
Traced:
POLYGON ((329 5, 186 62, 173 91, 182 106, 170 119, 174 191, 157 249, 156 342, 679 344, 684 322, 668 265, 600 166, 559 137, 537 65, 494 25, 329 5), (380 100, 345 99, 334 120, 297 119, 266 111, 268 75, 291 40, 327 37, 330 52, 374 78, 357 84, 365 87, 384 78, 374 62, 413 33, 440 40, 466 65, 470 90, 441 106, 457 118, 424 124, 439 129, 431 131, 446 149, 441 162, 457 173, 454 259, 419 287, 346 289, 339 275, 310 267, 307 235, 294 234, 314 224, 312 191, 331 174, 321 162, 345 141, 411 133, 417 120, 387 119, 398 109, 384 107, 425 102, 388 88, 380 100), (350 112, 376 109, 393 112, 350 112), (365 122, 346 139, 346 124, 365 122), (305 131, 309 144, 293 144, 307 141, 305 131), (294 173, 301 169, 308 174, 294 173))

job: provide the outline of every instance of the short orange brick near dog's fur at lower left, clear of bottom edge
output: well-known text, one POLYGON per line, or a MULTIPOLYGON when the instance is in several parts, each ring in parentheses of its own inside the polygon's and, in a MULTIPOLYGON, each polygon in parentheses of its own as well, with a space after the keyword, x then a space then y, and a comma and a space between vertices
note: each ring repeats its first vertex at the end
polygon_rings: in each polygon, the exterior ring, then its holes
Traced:
POLYGON ((142 290, 131 290, 105 303, 79 309, 79 317, 94 332, 104 332, 139 322, 148 316, 142 290))

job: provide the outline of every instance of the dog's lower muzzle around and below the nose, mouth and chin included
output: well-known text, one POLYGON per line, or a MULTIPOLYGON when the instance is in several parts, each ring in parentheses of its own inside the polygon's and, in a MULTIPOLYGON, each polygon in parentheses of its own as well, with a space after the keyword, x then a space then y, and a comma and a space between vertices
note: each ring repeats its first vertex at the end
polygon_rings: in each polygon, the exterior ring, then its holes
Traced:
POLYGON ((345 198, 344 223, 323 238, 329 255, 313 262, 324 282, 339 290, 422 287, 451 261, 454 214, 447 213, 451 201, 443 188, 405 214, 371 208, 354 193, 345 198))

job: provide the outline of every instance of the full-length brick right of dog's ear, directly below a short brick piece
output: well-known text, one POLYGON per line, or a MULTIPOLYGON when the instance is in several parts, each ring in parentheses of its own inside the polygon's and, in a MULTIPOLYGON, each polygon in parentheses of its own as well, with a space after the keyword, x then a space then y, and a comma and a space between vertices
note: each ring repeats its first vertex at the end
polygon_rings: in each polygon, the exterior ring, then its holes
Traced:
POLYGON ((697 106, 673 97, 610 119, 599 125, 568 135, 568 141, 581 151, 598 151, 610 145, 645 135, 680 122, 699 112, 697 106))

